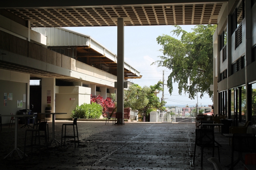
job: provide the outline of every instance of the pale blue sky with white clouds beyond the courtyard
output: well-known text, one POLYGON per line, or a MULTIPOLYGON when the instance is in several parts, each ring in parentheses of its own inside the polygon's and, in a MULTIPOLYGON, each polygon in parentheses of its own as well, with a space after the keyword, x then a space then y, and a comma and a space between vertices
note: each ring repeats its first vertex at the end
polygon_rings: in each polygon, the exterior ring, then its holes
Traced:
MULTIPOLYGON (((187 32, 191 32, 191 28, 195 25, 181 25, 182 29, 187 32)), ((162 48, 156 41, 158 36, 163 34, 170 35, 172 37, 178 38, 172 33, 174 26, 171 25, 161 25, 161 26, 125 26, 124 27, 124 60, 133 66, 136 70, 141 72, 141 79, 128 79, 129 81, 136 83, 140 86, 150 86, 155 85, 159 80, 163 79, 164 72, 164 83, 168 79, 171 71, 166 67, 157 67, 157 65, 152 65, 151 63, 160 60, 158 56, 162 55, 159 49, 162 48)), ((99 43, 104 45, 114 54, 117 54, 117 27, 68 27, 68 29, 81 32, 83 34, 89 35, 99 43)), ((157 95, 159 98, 162 97, 162 92, 157 95)), ((204 94, 202 99, 199 97, 198 93, 198 105, 208 106, 212 104, 212 100, 208 94, 204 94)), ((173 92, 170 96, 167 86, 164 86, 164 98, 166 106, 186 106, 193 107, 197 103, 197 98, 195 100, 190 100, 188 94, 182 92, 181 95, 178 94, 178 83, 173 84, 173 92)))

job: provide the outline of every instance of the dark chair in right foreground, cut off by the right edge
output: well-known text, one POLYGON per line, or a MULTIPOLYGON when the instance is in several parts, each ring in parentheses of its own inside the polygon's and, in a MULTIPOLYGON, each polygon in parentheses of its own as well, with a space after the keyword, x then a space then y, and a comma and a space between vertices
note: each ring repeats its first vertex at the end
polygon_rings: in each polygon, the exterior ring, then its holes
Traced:
POLYGON ((243 161, 243 152, 256 152, 255 134, 233 134, 232 139, 232 155, 231 155, 231 170, 238 164, 239 161, 243 161), (234 162, 234 151, 238 152, 238 159, 234 162))

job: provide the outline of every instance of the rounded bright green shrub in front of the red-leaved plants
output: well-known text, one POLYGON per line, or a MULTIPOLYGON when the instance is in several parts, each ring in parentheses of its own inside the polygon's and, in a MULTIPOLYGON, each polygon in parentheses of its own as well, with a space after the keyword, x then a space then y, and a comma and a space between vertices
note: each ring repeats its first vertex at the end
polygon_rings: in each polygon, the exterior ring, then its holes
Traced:
POLYGON ((99 119, 102 115, 102 107, 97 103, 82 104, 71 111, 71 117, 79 119, 99 119))

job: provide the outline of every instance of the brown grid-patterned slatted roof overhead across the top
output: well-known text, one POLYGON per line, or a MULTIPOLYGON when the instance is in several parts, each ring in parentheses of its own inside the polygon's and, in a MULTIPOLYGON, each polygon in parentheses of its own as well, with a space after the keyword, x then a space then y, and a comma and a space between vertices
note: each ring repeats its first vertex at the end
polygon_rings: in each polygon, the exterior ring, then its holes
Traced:
POLYGON ((133 25, 217 24, 222 2, 184 3, 177 5, 130 5, 96 7, 6 8, 29 20, 32 27, 116 26, 125 18, 133 25))

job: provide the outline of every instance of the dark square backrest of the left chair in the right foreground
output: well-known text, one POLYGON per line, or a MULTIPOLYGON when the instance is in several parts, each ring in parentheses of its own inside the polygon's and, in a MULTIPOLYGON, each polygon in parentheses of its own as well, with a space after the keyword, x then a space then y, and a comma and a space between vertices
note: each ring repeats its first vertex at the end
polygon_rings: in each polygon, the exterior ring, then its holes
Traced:
POLYGON ((214 145, 213 129, 196 129, 196 145, 210 146, 214 145))

